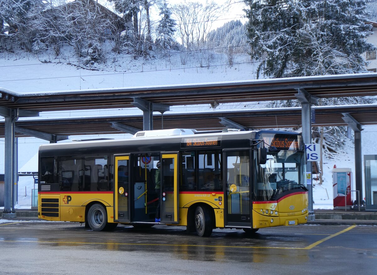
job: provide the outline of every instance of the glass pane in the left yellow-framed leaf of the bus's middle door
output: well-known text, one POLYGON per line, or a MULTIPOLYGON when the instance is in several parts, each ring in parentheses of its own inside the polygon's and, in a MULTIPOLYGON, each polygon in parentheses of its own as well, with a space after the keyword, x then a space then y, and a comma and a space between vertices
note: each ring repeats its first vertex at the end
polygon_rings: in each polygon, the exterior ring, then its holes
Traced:
POLYGON ((129 220, 128 196, 129 196, 129 167, 128 160, 118 160, 118 220, 129 220))

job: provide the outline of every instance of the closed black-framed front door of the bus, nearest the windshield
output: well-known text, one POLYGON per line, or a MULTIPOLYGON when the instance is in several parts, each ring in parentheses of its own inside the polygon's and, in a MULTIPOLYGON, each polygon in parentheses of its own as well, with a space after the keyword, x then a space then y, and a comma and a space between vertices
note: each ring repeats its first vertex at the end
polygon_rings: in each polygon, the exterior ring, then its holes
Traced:
POLYGON ((250 228, 250 150, 224 150, 227 227, 250 228))

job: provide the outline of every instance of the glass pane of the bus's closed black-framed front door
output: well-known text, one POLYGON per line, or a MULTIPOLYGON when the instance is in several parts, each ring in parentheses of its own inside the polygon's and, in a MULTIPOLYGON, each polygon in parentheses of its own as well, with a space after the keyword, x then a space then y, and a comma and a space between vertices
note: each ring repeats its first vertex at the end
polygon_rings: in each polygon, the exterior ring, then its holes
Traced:
POLYGON ((228 214, 248 215, 250 214, 250 152, 228 152, 226 161, 228 214))

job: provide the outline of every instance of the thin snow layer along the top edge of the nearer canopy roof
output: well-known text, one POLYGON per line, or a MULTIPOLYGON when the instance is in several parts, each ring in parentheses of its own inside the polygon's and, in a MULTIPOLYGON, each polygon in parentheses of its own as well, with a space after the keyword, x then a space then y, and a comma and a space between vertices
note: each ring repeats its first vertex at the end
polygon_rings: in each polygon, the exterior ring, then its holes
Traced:
MULTIPOLYGON (((106 73, 104 74, 106 75, 106 73)), ((318 81, 318 80, 336 80, 344 78, 364 78, 366 76, 377 76, 377 73, 348 73, 343 75, 322 75, 322 76, 300 76, 287 78, 270 78, 270 79, 254 79, 254 80, 240 80, 240 81, 226 81, 226 82, 209 82, 209 83, 191 83, 179 85, 159 85, 159 86, 139 86, 139 87, 121 87, 121 88, 106 88, 106 89, 86 89, 86 90, 65 90, 65 91, 48 91, 48 92, 13 92, 0 87, 0 92, 5 92, 14 96, 46 96, 46 95, 69 95, 69 94, 86 94, 86 93, 111 93, 111 92, 132 92, 132 91, 147 91, 155 89, 183 89, 196 87, 213 87, 213 86, 231 86, 234 84, 269 84, 269 83, 289 83, 297 81, 318 81)))

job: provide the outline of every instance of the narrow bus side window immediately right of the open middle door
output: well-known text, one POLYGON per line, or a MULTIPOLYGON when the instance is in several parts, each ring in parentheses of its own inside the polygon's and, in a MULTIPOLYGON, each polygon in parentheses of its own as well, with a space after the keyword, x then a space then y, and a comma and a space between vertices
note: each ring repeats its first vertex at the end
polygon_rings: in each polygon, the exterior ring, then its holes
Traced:
POLYGON ((179 173, 179 189, 196 191, 195 153, 183 152, 181 156, 181 173, 179 173))

